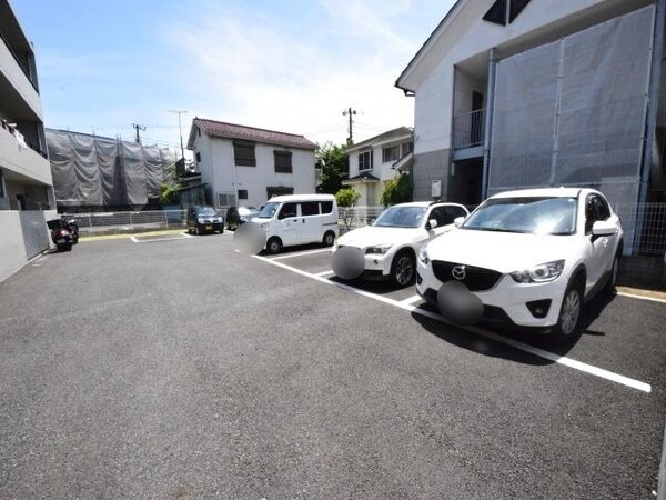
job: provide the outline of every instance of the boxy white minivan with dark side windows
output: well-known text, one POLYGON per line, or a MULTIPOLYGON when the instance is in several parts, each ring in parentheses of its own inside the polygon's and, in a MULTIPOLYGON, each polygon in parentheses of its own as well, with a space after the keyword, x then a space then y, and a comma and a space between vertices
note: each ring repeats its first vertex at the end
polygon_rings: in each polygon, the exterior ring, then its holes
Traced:
POLYGON ((331 247, 337 238, 337 203, 333 194, 274 197, 252 222, 265 231, 265 248, 271 253, 295 244, 331 247))

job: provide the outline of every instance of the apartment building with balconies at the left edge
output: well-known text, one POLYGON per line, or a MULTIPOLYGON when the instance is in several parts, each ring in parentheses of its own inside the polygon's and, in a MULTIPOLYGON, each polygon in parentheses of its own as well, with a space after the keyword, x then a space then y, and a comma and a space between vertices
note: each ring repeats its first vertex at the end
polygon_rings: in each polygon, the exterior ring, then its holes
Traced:
POLYGON ((32 44, 0 0, 0 281, 49 248, 56 201, 32 44))

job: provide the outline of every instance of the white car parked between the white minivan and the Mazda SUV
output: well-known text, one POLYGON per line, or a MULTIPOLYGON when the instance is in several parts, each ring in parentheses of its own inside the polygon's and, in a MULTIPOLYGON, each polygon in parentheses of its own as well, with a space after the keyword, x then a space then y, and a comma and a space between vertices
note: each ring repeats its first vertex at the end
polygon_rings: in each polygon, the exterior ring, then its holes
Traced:
POLYGON ((421 247, 454 228, 453 221, 470 212, 457 203, 417 201, 384 210, 371 226, 355 229, 337 239, 333 253, 342 247, 357 248, 364 256, 363 277, 391 279, 405 287, 416 276, 421 247))

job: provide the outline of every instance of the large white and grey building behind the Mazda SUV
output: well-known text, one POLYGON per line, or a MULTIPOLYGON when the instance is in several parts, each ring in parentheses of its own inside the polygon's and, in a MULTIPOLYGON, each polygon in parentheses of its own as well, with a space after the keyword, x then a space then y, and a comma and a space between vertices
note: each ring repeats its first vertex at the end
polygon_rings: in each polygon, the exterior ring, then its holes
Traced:
POLYGON ((396 81, 414 197, 594 187, 630 251, 640 207, 666 201, 664 18, 665 0, 458 0, 396 81))

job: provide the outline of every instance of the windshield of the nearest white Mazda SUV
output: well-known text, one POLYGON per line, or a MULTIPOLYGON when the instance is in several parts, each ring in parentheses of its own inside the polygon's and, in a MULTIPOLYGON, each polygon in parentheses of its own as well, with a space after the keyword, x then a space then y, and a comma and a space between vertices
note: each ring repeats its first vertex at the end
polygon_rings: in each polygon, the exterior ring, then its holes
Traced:
POLYGON ((573 234, 576 231, 576 199, 491 199, 474 211, 462 228, 531 234, 573 234))

